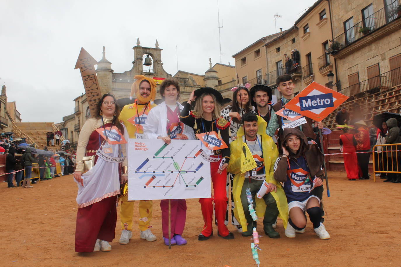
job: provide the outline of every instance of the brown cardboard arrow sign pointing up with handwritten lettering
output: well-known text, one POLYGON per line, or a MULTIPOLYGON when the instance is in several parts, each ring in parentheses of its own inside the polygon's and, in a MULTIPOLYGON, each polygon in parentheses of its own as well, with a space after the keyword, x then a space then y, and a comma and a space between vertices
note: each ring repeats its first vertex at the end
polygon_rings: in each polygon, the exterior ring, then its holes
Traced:
POLYGON ((97 103, 101 99, 99 82, 95 71, 97 61, 81 47, 81 52, 75 64, 75 68, 79 68, 82 76, 83 87, 85 87, 86 98, 91 110, 92 117, 96 116, 97 103))

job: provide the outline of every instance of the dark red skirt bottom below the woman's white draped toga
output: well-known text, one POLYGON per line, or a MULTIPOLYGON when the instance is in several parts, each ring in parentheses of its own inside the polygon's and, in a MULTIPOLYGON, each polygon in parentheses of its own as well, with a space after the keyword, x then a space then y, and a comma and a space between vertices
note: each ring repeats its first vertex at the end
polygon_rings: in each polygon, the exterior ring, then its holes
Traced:
POLYGON ((96 239, 112 242, 117 222, 117 195, 106 197, 77 212, 75 251, 93 252, 96 239))

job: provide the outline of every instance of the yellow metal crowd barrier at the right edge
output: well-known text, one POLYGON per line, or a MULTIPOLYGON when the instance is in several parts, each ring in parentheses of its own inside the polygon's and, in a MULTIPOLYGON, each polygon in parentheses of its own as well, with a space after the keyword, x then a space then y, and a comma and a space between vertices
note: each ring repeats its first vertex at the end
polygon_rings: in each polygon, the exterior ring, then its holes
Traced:
POLYGON ((398 159, 397 155, 400 150, 401 144, 375 145, 373 147, 374 182, 376 182, 376 173, 401 173, 401 167, 399 167, 401 159, 398 159), (378 147, 381 147, 381 152, 377 151, 378 147), (388 157, 388 153, 391 153, 391 157, 388 157))

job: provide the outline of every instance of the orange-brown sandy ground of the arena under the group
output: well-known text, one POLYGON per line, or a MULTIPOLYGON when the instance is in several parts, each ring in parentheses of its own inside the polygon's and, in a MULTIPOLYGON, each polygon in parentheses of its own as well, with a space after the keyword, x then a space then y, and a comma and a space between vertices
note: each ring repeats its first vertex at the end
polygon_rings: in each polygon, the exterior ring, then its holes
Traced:
MULTIPOLYGON (((401 184, 378 179, 348 181, 343 172, 329 172, 331 197, 324 195, 325 226, 331 239, 320 240, 308 222, 296 238, 270 239, 259 234, 260 266, 398 266, 401 265, 401 184)), ((162 241, 160 201, 154 201, 154 242, 140 239, 139 230, 127 245, 120 245, 119 217, 112 251, 74 252, 77 186, 72 175, 43 181, 31 189, 8 189, 0 184, 0 266, 256 266, 251 239, 235 232, 234 240, 214 236, 198 241, 203 227, 200 204, 187 200, 184 238, 188 244, 172 246, 162 241)), ((137 207, 137 206, 136 206, 137 207)), ((139 220, 135 208, 134 224, 139 220)), ((119 207, 117 207, 117 213, 119 207)), ((261 220, 258 221, 262 229, 261 220)))

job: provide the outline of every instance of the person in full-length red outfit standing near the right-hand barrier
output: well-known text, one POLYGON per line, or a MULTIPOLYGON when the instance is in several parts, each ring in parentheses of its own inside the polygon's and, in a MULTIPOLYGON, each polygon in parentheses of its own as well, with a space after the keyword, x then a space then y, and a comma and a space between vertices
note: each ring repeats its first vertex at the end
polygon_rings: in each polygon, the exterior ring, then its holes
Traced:
POLYGON ((359 178, 358 158, 356 157, 356 140, 352 133, 348 133, 348 128, 342 128, 344 132, 340 135, 340 145, 342 146, 342 156, 344 157, 345 171, 349 181, 356 181, 359 178), (352 154, 345 154, 352 153, 352 154))

